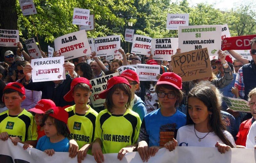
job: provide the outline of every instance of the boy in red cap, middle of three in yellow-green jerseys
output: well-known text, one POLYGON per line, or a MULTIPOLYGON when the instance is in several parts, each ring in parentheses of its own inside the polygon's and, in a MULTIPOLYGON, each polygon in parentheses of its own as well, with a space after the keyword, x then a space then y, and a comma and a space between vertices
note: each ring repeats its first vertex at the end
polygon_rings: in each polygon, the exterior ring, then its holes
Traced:
MULTIPOLYGON (((71 82, 69 92, 64 96, 67 102, 75 101, 76 104, 65 110, 68 112, 68 128, 70 129, 68 138, 75 140, 78 145, 78 162, 84 160, 84 156, 94 140, 95 121, 98 113, 90 105, 87 105, 92 94, 91 89, 92 85, 88 79, 75 78, 71 82)), ((91 154, 91 151, 89 153, 91 154)), ((73 157, 72 154, 70 157, 73 157)))

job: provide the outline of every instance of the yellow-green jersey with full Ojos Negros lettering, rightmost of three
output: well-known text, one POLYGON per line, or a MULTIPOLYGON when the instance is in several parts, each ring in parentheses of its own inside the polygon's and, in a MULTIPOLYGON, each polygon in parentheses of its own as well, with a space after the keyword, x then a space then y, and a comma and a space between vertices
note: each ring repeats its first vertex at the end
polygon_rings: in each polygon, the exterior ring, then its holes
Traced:
POLYGON ((94 140, 100 138, 103 153, 118 153, 122 148, 137 143, 140 125, 139 114, 130 109, 124 115, 113 115, 105 109, 96 119, 94 140))

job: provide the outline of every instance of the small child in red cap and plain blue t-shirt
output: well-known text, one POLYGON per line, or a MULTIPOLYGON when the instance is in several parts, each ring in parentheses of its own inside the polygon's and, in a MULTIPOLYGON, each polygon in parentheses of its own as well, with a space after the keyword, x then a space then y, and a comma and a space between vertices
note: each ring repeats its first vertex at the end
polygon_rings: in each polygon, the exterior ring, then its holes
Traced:
POLYGON ((61 107, 52 107, 43 116, 45 136, 42 136, 36 149, 52 156, 56 152, 68 152, 69 140, 66 137, 68 130, 68 113, 61 107))

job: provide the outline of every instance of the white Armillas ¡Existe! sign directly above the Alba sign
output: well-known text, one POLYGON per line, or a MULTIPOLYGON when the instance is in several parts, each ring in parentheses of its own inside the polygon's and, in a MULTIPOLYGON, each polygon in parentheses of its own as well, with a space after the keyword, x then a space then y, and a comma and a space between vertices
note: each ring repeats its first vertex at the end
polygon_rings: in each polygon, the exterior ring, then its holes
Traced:
POLYGON ((88 26, 89 16, 90 10, 74 8, 72 24, 88 26))

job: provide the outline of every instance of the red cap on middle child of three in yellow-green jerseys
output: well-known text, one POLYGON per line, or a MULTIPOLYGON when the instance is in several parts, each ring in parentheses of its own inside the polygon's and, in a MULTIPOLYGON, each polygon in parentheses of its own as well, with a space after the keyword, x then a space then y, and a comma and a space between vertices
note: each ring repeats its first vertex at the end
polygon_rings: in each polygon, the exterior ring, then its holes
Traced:
POLYGON ((90 89, 92 89, 92 85, 90 83, 90 81, 86 78, 83 77, 79 77, 79 78, 75 78, 73 79, 73 81, 70 84, 70 90, 68 91, 68 93, 63 97, 65 101, 67 102, 72 102, 74 101, 74 97, 72 96, 74 87, 79 84, 79 83, 85 83, 87 85, 89 85, 90 89))

